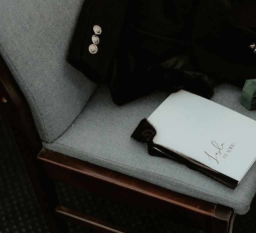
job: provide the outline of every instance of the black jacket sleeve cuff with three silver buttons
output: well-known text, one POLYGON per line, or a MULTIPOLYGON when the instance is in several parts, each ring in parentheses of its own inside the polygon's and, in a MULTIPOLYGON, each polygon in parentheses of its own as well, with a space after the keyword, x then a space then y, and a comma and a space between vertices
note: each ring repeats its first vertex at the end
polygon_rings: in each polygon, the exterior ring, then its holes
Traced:
POLYGON ((112 65, 119 45, 128 0, 85 0, 68 54, 68 62, 94 82, 103 81, 112 65), (98 52, 91 54, 89 46, 95 35, 93 26, 102 29, 98 52))

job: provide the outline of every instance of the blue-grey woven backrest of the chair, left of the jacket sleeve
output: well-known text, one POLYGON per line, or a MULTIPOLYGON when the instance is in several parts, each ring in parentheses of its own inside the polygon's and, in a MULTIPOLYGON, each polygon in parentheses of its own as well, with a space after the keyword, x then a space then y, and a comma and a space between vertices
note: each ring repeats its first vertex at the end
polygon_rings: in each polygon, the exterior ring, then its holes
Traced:
POLYGON ((61 135, 96 85, 66 62, 83 0, 0 1, 0 54, 43 141, 61 135))

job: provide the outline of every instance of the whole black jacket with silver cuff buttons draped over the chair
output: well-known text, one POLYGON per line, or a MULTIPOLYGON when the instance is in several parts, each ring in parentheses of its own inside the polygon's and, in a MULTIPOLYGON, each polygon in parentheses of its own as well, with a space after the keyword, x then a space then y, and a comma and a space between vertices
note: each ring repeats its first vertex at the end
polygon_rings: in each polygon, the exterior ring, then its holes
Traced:
POLYGON ((118 105, 156 89, 210 98, 217 82, 242 87, 255 77, 255 15, 253 1, 87 0, 68 61, 92 81, 106 80, 118 105), (91 54, 94 25, 102 34, 91 54))

